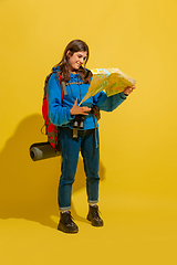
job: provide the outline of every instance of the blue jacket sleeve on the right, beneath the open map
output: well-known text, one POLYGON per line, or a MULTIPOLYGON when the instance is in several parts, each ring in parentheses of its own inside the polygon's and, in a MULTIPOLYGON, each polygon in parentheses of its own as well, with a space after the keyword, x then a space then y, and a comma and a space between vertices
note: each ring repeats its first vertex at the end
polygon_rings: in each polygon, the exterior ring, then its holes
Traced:
POLYGON ((101 110, 113 112, 126 99, 126 97, 127 96, 124 94, 124 92, 110 97, 106 96, 105 92, 100 92, 93 97, 93 103, 101 110))

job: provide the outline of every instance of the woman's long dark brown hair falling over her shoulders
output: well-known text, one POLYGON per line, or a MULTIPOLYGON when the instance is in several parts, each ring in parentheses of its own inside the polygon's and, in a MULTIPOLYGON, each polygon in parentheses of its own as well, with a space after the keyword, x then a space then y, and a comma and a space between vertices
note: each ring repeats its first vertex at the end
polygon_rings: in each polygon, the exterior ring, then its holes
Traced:
POLYGON ((59 64, 55 65, 55 66, 60 66, 60 73, 59 74, 61 75, 62 81, 69 82, 70 74, 71 74, 71 67, 70 67, 70 63, 69 63, 67 51, 70 51, 71 56, 75 52, 80 52, 80 51, 84 51, 84 52, 87 53, 87 56, 86 56, 85 62, 84 62, 84 67, 81 66, 77 72, 80 73, 80 76, 83 80, 83 82, 88 83, 88 81, 92 76, 92 73, 91 73, 91 71, 85 70, 85 65, 86 65, 86 62, 87 62, 88 56, 90 56, 90 50, 88 50, 87 44, 84 41, 81 41, 81 40, 71 41, 64 50, 62 60, 60 61, 59 64))

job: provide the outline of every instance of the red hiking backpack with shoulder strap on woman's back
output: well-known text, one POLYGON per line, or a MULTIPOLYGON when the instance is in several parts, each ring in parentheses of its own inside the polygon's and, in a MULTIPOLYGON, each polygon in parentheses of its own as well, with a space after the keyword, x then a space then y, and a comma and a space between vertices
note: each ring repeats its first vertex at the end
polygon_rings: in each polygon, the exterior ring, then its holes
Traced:
MULTIPOLYGON (((60 151, 60 142, 58 141, 59 138, 59 132, 60 129, 58 128, 58 126, 53 125, 49 118, 49 114, 48 114, 48 82, 51 77, 51 75, 53 74, 50 73, 44 82, 44 97, 43 97, 43 104, 42 104, 42 115, 43 118, 45 120, 45 135, 48 135, 48 141, 50 142, 50 145, 55 149, 55 151, 60 151)), ((66 94, 66 87, 65 87, 65 83, 61 82, 61 75, 59 75, 60 78, 60 84, 61 84, 61 89, 62 89, 62 100, 64 95, 66 94)))

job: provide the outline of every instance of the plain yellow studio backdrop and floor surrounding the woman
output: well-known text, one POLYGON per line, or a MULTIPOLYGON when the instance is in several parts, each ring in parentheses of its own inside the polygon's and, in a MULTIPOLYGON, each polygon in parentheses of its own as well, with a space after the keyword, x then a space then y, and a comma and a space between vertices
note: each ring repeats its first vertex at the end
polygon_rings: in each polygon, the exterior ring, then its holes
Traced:
POLYGON ((176 264, 177 1, 0 1, 1 264, 176 264), (76 235, 56 230, 60 158, 33 162, 46 138, 43 82, 65 45, 82 39, 88 68, 118 67, 136 91, 102 113, 100 209, 85 221, 80 158, 73 188, 76 235))

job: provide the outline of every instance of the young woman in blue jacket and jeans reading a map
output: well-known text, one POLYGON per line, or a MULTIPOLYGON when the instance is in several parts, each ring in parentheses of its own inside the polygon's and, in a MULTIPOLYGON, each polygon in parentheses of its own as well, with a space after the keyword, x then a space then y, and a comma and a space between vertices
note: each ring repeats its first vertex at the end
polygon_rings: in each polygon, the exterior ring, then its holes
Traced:
POLYGON ((101 92, 90 97, 79 107, 79 103, 88 89, 92 76, 91 72, 85 68, 88 55, 88 46, 85 42, 81 40, 70 42, 65 47, 61 62, 53 67, 53 74, 48 84, 49 117, 52 124, 60 127, 59 140, 62 153, 59 184, 60 222, 58 230, 65 233, 79 232, 79 227, 71 216, 71 194, 80 150, 86 174, 87 220, 94 226, 103 226, 103 220, 98 214, 97 206, 100 182, 98 124, 92 108, 96 106, 101 110, 112 112, 135 88, 134 86, 126 87, 123 93, 111 97, 101 92), (66 85, 63 98, 61 84, 66 85), (73 136, 73 124, 77 119, 77 136, 73 136), (82 120, 84 120, 84 127, 82 120))

